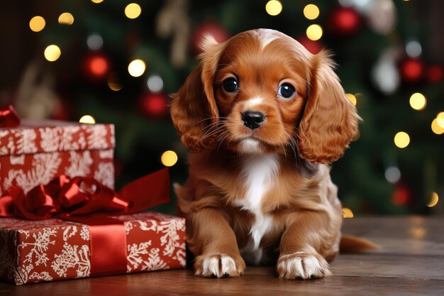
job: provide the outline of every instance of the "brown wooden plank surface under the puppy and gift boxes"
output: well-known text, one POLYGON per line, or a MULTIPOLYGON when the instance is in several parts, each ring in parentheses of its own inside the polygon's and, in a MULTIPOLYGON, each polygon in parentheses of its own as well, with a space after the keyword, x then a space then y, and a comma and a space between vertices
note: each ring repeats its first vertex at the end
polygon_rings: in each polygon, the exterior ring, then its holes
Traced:
POLYGON ((344 234, 382 246, 378 251, 341 254, 333 276, 321 280, 278 280, 274 268, 247 268, 241 278, 204 279, 192 270, 167 270, 106 278, 13 286, 1 295, 444 295, 444 218, 346 219, 344 234))

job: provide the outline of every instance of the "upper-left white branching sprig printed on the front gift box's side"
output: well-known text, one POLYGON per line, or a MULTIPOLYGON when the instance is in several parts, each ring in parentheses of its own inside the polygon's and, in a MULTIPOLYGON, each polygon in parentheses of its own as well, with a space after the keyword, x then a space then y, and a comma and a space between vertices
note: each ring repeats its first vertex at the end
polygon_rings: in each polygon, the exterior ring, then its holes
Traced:
MULTIPOLYGON (((30 237, 30 231, 19 230, 19 234, 24 234, 26 239, 30 237)), ((44 228, 42 231, 34 232, 32 237, 34 239, 33 242, 30 243, 20 243, 18 248, 28 248, 28 246, 32 246, 32 248, 26 254, 26 259, 23 261, 24 263, 34 263, 35 265, 43 264, 46 266, 46 263, 50 260, 48 258, 48 248, 49 245, 54 245, 55 240, 52 239, 51 236, 57 235, 57 229, 44 228), (37 259, 33 262, 33 259, 37 259)))

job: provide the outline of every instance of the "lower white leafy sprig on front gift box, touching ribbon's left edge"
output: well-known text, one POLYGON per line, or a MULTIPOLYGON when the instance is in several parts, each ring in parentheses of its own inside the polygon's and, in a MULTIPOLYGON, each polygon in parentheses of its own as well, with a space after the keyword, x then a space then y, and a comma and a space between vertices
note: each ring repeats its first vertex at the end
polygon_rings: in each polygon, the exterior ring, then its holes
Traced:
POLYGON ((76 278, 87 278, 91 273, 89 256, 89 246, 83 245, 79 248, 77 245, 65 243, 62 253, 54 255, 55 260, 52 261, 51 267, 62 278, 66 278, 68 268, 76 268, 76 278))

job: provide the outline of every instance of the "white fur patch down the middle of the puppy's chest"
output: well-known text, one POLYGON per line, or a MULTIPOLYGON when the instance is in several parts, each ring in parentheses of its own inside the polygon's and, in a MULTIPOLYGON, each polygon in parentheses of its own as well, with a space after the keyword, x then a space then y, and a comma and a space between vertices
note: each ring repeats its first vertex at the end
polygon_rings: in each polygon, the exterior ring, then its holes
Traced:
POLYGON ((279 163, 276 155, 260 155, 258 158, 246 160, 243 165, 246 180, 245 197, 238 199, 235 205, 255 216, 250 229, 250 244, 242 250, 243 253, 252 255, 252 263, 259 263, 262 258, 260 241, 272 227, 272 216, 263 214, 261 208, 262 200, 275 182, 278 171, 279 163))

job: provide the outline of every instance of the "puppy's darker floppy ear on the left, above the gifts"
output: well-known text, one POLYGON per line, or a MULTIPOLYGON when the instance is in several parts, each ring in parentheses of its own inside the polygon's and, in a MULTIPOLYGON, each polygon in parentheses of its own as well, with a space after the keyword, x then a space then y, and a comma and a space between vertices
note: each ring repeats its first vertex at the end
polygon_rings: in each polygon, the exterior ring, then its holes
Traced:
POLYGON ((201 45, 200 64, 187 77, 179 92, 172 94, 171 117, 181 136, 182 143, 192 152, 211 149, 216 143, 219 113, 213 93, 216 73, 223 43, 218 44, 210 35, 201 45))

